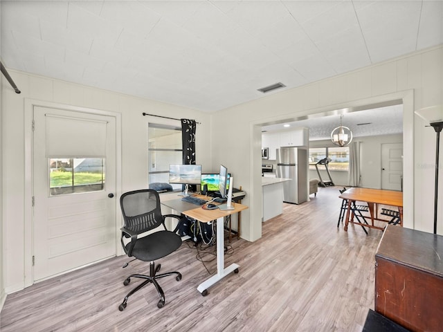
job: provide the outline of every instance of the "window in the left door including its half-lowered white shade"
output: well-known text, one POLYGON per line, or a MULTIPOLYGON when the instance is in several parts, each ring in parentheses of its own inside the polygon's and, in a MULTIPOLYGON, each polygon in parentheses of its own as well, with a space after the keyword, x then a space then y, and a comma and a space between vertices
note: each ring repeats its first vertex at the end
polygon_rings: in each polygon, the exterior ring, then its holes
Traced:
POLYGON ((107 122, 46 113, 49 194, 105 189, 107 122))

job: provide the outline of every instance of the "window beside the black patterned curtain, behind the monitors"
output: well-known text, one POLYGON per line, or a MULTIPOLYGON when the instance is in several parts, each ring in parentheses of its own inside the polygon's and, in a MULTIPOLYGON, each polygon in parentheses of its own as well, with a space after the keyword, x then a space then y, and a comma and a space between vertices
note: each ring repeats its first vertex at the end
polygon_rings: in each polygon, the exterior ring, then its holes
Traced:
MULTIPOLYGON (((181 164, 181 128, 150 123, 148 127, 148 183, 169 183, 169 165, 181 164)), ((172 185, 181 190, 181 185, 172 185)))

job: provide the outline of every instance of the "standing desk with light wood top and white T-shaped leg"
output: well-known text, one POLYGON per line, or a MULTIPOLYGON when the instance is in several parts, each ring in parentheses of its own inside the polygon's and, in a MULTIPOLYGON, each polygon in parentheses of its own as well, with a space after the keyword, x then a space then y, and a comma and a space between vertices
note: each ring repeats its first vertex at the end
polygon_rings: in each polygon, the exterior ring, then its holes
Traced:
POLYGON ((197 291, 199 291, 201 295, 208 295, 208 288, 230 273, 238 273, 238 264, 233 263, 227 268, 224 267, 224 217, 246 210, 248 208, 246 205, 232 203, 234 210, 204 210, 201 206, 181 201, 181 199, 164 201, 162 204, 202 223, 217 220, 217 274, 199 284, 197 291))

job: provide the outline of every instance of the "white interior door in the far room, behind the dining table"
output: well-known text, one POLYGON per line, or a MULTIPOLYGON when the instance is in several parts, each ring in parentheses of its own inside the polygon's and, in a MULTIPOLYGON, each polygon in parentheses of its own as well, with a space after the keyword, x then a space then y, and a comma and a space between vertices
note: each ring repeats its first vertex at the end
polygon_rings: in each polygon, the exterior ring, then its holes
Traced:
POLYGON ((381 189, 402 190, 403 143, 381 145, 381 189))

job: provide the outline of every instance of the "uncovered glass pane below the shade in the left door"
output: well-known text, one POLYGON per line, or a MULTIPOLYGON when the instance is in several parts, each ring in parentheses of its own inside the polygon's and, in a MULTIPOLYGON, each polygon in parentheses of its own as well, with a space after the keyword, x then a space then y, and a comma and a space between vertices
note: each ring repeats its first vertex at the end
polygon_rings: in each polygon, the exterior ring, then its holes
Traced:
POLYGON ((105 189, 105 158, 50 158, 51 196, 105 189))

